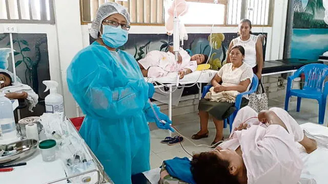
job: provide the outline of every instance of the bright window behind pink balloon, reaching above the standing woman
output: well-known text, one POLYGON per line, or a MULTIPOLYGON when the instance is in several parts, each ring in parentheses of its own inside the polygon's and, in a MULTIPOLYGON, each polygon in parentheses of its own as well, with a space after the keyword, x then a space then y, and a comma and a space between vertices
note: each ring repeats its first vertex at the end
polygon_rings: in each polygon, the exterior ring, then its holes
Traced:
MULTIPOLYGON (((269 26, 272 21, 273 0, 187 0, 189 11, 180 17, 185 25, 238 25, 243 18, 248 18, 253 25, 269 26)), ((165 19, 167 10, 173 0, 165 2, 165 19)))

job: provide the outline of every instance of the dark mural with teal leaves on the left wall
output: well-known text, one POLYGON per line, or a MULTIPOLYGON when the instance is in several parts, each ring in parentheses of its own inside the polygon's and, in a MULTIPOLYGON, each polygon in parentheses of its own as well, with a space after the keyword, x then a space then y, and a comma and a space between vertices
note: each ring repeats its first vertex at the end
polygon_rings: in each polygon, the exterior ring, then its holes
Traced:
MULTIPOLYGON (((0 48, 10 48, 9 34, 0 34, 0 48)), ((13 34, 13 48, 16 75, 38 94, 39 102, 43 101, 49 92, 44 93, 46 86, 42 81, 50 80, 47 34, 13 34)), ((8 62, 8 70, 13 72, 11 55, 8 62)), ((44 107, 38 103, 33 111, 26 113, 41 115, 44 107)))

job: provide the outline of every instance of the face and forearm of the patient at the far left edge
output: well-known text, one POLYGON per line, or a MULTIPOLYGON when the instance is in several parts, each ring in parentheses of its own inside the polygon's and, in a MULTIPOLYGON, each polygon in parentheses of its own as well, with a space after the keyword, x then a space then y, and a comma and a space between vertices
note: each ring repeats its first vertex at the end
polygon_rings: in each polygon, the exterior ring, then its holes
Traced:
MULTIPOLYGON (((5 72, 0 72, 0 91, 4 87, 10 86, 12 83, 11 76, 5 72)), ((28 94, 25 91, 6 93, 5 97, 9 99, 26 99, 28 94)))

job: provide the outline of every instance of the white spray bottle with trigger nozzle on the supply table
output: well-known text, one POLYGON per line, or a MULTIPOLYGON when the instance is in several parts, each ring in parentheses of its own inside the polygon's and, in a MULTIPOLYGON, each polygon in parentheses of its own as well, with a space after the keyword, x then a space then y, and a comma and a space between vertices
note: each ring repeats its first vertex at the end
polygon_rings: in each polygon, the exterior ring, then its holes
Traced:
POLYGON ((63 113, 64 116, 64 100, 63 96, 57 94, 58 83, 56 81, 43 81, 47 86, 46 91, 50 89, 50 94, 45 98, 46 112, 47 113, 63 113))

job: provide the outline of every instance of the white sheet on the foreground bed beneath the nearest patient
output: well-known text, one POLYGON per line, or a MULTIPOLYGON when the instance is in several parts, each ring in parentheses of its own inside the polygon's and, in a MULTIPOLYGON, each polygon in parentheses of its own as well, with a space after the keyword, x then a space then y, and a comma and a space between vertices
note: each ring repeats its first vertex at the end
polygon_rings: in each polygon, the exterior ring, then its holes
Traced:
MULTIPOLYGON (((305 123, 300 125, 303 129, 310 132, 311 134, 319 134, 328 136, 328 127, 314 124, 314 123, 305 123)), ((302 181, 302 184, 326 184, 327 183, 327 174, 326 170, 328 168, 328 149, 318 148, 311 154, 305 152, 304 148, 300 146, 301 157, 304 162, 304 169, 301 174, 301 178, 314 179, 316 182, 311 181, 302 181)), ((293 169, 293 168, 291 168, 293 169)), ((144 172, 144 175, 152 184, 157 184, 160 178, 160 169, 153 169, 148 172, 144 172)))

